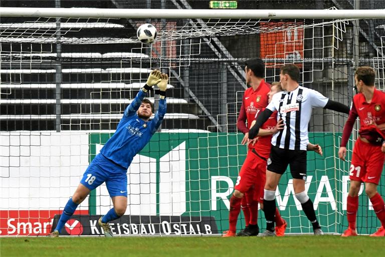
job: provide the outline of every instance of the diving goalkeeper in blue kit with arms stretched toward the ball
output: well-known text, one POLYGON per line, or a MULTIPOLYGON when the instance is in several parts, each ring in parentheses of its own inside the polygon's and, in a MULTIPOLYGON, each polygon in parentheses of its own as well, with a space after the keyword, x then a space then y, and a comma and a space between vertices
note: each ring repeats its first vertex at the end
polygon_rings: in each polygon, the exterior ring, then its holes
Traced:
POLYGON ((127 169, 134 156, 150 141, 166 113, 167 81, 168 76, 158 70, 150 73, 146 85, 124 110, 115 134, 88 166, 74 195, 64 207, 56 228, 50 233, 50 237, 59 236, 64 224, 74 214, 78 205, 103 182, 106 182, 114 207, 106 215, 100 217, 98 223, 103 228, 104 235, 112 237, 108 222, 122 216, 127 208, 127 169), (156 84, 160 89, 159 109, 154 118, 150 120, 153 104, 144 96, 156 84))

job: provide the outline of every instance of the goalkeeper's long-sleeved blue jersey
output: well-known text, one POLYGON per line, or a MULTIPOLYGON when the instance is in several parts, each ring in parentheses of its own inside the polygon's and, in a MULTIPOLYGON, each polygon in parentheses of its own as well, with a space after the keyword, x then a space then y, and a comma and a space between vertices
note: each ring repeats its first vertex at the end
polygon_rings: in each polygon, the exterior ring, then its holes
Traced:
POLYGON ((124 110, 115 134, 100 150, 106 158, 126 169, 134 156, 150 141, 166 113, 166 100, 160 99, 159 109, 152 120, 144 121, 139 118, 136 111, 145 95, 146 93, 142 90, 137 93, 135 99, 124 110))

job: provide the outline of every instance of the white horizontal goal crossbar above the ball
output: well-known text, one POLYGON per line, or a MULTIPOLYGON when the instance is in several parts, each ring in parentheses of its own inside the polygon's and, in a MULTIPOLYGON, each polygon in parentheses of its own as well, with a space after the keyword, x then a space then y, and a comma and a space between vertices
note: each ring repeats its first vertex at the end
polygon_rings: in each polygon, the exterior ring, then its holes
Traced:
POLYGON ((3 7, 1 17, 158 19, 385 19, 385 10, 206 10, 3 7))

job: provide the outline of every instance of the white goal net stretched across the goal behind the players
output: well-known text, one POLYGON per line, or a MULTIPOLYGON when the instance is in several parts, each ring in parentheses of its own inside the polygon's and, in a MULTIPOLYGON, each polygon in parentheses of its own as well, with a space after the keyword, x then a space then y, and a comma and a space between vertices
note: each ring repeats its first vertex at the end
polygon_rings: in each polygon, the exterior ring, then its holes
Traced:
MULTIPOLYGON (((75 10, 77 11, 77 10, 75 10)), ((74 13, 76 13, 73 11, 74 13)), ((174 10, 179 12, 179 10, 174 10)), ((106 15, 102 16, 106 17, 106 15)), ((354 68, 376 71, 385 88, 384 20, 0 18, 0 232, 46 235, 88 164, 114 133, 124 108, 152 69, 170 77, 167 114, 159 132, 127 171, 128 206, 111 222, 117 235, 206 235, 227 230, 230 196, 247 148, 237 130, 244 62, 260 57, 269 83, 294 63, 300 84, 349 105, 354 68), (158 36, 141 44, 136 29, 158 36)), ((149 99, 157 108, 157 90, 149 99)), ((346 229, 349 166, 336 156, 347 116, 314 109, 306 190, 324 232, 346 229)), ((385 196, 382 176, 378 192, 385 196)), ((380 226, 360 192, 358 233, 380 226)), ((312 232, 286 172, 276 192, 286 233, 312 232)), ((105 184, 80 204, 63 234, 100 235, 112 207, 105 184)), ((265 227, 260 211, 259 226, 265 227)), ((243 214, 238 229, 244 227, 243 214)))

